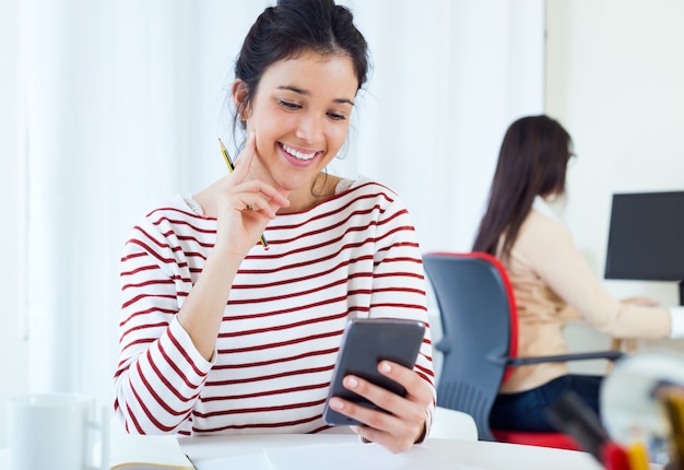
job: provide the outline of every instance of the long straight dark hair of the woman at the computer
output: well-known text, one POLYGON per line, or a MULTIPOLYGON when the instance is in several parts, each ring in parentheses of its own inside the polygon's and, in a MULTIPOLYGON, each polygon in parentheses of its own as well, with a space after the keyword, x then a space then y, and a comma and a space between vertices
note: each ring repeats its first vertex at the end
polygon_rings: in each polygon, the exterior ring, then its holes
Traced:
POLYGON ((529 116, 510 125, 504 137, 487 210, 480 223, 473 251, 510 255, 520 225, 536 196, 563 196, 573 139, 558 121, 549 116, 529 116))

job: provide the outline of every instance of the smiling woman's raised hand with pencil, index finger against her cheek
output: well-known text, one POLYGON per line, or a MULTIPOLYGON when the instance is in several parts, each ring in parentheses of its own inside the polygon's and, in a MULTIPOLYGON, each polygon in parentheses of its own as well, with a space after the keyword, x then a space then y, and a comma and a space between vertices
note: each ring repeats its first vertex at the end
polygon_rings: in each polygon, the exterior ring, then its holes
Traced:
POLYGON ((235 171, 219 181, 214 192, 219 221, 215 248, 240 256, 259 240, 278 210, 290 205, 290 191, 248 179, 256 155, 256 136, 251 132, 235 161, 235 171))

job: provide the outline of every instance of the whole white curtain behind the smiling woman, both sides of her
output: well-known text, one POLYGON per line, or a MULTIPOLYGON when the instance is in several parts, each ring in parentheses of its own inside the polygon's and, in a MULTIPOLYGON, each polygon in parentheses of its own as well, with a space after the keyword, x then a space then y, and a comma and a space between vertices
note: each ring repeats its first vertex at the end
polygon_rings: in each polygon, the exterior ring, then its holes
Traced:
MULTIPOLYGON (((225 97, 270 1, 23 0, 30 391, 110 402, 130 227, 225 173, 225 97)), ((507 125, 543 110, 543 0, 347 1, 374 70, 332 173, 376 177, 424 250, 469 249, 507 125)))

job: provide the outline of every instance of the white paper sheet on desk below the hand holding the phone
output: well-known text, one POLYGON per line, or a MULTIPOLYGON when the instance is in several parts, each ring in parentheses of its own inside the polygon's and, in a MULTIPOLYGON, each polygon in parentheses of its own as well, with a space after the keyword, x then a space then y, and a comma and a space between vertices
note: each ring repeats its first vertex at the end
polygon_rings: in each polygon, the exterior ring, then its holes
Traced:
POLYGON ((481 470, 463 466, 423 446, 392 454, 378 444, 316 444, 264 450, 270 470, 481 470))

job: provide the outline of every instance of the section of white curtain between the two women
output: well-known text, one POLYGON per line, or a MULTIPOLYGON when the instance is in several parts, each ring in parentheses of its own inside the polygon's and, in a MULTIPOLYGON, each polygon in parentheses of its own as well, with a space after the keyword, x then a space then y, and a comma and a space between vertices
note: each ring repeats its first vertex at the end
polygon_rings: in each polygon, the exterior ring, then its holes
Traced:
POLYGON ((543 0, 344 3, 374 69, 333 172, 394 188, 424 250, 470 249, 508 124, 543 109, 543 0))

